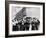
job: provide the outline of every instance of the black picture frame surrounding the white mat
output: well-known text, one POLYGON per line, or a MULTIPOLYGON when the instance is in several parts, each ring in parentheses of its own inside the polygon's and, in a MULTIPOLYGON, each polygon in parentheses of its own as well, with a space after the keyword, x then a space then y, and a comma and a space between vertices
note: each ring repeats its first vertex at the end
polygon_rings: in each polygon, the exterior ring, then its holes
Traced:
POLYGON ((45 35, 45 3, 42 2, 25 2, 25 1, 5 1, 5 37, 23 37, 23 36, 40 36, 45 35), (9 34, 9 4, 33 4, 43 5, 43 33, 37 34, 22 34, 22 35, 8 35, 9 34))

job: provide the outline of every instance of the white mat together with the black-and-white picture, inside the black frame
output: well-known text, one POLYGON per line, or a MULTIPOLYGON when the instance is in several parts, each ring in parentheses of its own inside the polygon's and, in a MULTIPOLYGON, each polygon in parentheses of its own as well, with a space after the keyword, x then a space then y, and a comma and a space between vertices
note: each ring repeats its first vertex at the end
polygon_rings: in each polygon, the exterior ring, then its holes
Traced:
POLYGON ((9 4, 8 35, 42 34, 42 4, 9 4))

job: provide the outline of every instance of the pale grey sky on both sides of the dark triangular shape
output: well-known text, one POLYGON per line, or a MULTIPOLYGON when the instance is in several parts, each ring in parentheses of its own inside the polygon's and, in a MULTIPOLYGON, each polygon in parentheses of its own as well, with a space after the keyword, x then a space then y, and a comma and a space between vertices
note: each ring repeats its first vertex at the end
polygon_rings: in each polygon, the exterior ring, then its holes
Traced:
MULTIPOLYGON (((15 15, 22 9, 23 7, 12 7, 12 17, 14 18, 15 15)), ((40 8, 39 7, 26 7, 26 13, 28 17, 36 17, 40 19, 40 8)))

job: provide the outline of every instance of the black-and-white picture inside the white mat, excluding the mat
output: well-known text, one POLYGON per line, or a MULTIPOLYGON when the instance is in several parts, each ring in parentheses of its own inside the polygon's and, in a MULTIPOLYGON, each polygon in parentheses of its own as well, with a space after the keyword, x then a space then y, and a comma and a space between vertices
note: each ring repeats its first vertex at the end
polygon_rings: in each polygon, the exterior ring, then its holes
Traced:
POLYGON ((39 30, 39 7, 12 7, 12 31, 39 30))

